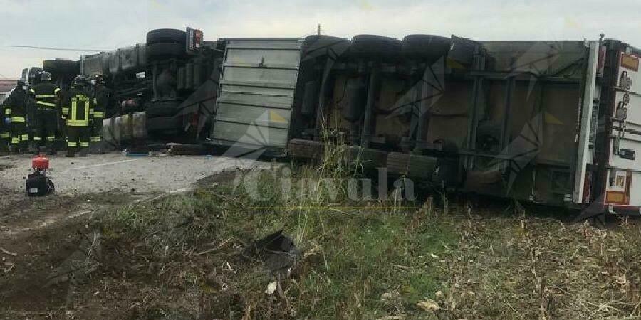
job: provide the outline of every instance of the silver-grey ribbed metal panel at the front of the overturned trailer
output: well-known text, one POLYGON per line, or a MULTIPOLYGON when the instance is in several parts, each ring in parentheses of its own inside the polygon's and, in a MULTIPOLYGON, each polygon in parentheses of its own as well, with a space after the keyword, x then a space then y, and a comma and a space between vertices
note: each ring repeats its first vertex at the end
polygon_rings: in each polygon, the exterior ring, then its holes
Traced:
POLYGON ((284 149, 301 39, 229 39, 212 128, 217 144, 284 149))

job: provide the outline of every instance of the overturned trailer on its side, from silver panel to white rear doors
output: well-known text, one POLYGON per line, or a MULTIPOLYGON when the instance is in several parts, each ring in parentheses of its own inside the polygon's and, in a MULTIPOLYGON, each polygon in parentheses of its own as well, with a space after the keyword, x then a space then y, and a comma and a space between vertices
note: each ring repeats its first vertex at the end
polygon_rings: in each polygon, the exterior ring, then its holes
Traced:
POLYGON ((211 141, 430 188, 641 213, 641 51, 615 40, 236 38, 211 141))

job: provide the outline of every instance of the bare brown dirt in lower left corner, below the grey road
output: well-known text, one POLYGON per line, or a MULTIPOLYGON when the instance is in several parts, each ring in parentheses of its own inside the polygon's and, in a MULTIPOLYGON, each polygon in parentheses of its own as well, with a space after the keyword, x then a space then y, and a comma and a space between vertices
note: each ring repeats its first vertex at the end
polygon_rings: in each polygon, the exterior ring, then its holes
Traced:
POLYGON ((48 277, 78 249, 78 243, 90 232, 86 223, 93 215, 135 196, 112 191, 36 201, 14 195, 14 199, 0 215, 0 315, 6 319, 44 316, 48 309, 64 304, 67 287, 46 286, 48 277))

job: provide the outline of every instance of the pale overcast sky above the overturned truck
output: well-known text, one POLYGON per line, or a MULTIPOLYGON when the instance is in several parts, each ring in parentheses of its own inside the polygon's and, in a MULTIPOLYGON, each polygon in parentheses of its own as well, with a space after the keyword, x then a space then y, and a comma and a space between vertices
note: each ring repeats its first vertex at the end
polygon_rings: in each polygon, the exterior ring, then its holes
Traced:
MULTIPOLYGON (((222 37, 351 37, 410 33, 477 40, 598 39, 641 47, 641 0, 0 0, 0 45, 113 50, 145 41, 154 28, 187 26, 222 37)), ((0 47, 0 78, 75 52, 0 47)), ((85 53, 86 54, 86 53, 85 53)))

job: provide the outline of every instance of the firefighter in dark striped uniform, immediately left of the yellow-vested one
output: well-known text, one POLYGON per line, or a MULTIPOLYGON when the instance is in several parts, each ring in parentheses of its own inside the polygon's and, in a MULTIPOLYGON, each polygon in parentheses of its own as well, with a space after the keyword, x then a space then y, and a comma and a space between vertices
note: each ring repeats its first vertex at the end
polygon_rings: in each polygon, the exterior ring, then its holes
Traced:
POLYGON ((51 73, 43 71, 40 83, 29 90, 35 99, 36 125, 33 140, 36 147, 45 146, 48 154, 56 154, 54 142, 58 129, 58 94, 60 88, 51 82, 51 73))

